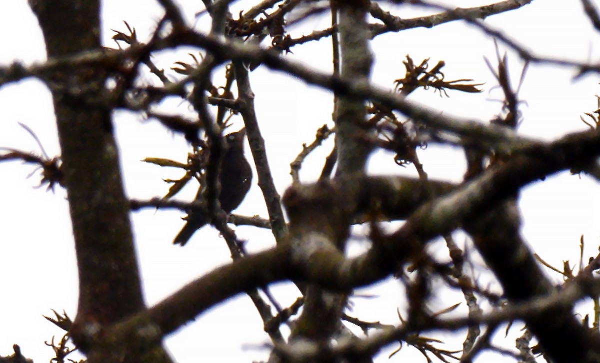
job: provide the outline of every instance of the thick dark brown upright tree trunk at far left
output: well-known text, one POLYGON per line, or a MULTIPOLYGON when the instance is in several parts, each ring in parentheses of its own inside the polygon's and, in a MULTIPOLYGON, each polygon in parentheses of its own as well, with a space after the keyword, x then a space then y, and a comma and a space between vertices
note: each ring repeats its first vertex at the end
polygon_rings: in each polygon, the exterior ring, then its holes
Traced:
MULTIPOLYGON (((49 58, 100 49, 99 1, 29 4, 49 58)), ((102 329, 145 309, 104 87, 107 74, 99 66, 81 66, 58 69, 44 80, 54 100, 79 268, 79 307, 71 336, 83 352, 94 350, 102 329)), ((101 345, 106 356, 115 358, 112 347, 101 345)))

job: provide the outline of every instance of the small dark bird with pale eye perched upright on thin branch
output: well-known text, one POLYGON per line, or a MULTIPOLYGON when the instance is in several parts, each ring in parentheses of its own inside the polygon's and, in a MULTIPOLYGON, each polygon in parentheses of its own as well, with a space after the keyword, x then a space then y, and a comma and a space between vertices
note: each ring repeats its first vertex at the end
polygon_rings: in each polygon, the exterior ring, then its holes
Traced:
MULTIPOLYGON (((238 132, 225 136, 227 151, 221 160, 219 202, 221 208, 227 213, 231 213, 244 200, 252 183, 252 169, 244 156, 245 135, 246 129, 243 128, 238 132)), ((196 199, 204 198, 203 192, 203 188, 200 187, 196 199)), ((197 229, 208 223, 208 217, 200 211, 190 212, 185 220, 187 222, 173 240, 173 244, 184 246, 197 229)))

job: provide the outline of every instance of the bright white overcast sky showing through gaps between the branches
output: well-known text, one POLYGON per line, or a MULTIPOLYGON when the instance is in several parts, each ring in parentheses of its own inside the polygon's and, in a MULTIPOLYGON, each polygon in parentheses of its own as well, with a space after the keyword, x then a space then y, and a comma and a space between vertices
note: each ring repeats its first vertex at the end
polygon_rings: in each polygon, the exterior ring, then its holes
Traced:
MULTIPOLYGON (((188 21, 203 9, 201 1, 177 1, 184 8, 188 21)), ((473 7, 491 1, 446 1, 455 6, 473 7)), ((600 1, 595 1, 600 8, 600 1)), ((238 14, 244 2, 233 4, 231 11, 238 14)), ((398 7, 392 11, 401 17, 414 17, 423 11, 408 11, 398 7)), ((136 28, 140 41, 147 40, 160 19, 161 8, 154 1, 128 0, 104 1, 103 40, 106 46, 116 44, 110 39, 110 29, 126 32, 122 20, 136 28)), ((600 55, 600 37, 584 17, 579 1, 535 0, 526 7, 507 14, 490 17, 486 23, 533 50, 536 55, 556 56, 577 61, 596 61, 600 55)), ((292 36, 308 34, 312 29, 328 27, 329 17, 322 16, 305 22, 303 28, 293 28, 292 36)), ((208 30, 206 17, 196 25, 208 30)), ((411 98, 444 113, 473 117, 488 122, 500 111, 502 99, 496 82, 484 62, 484 56, 496 64, 493 41, 472 26, 449 23, 434 29, 412 29, 398 34, 377 37, 371 44, 376 63, 372 80, 380 86, 392 87, 395 78, 404 75, 402 61, 409 54, 415 63, 431 58, 434 65, 440 59, 446 62, 443 72, 446 80, 473 78, 485 82, 484 92, 478 95, 449 92, 451 98, 440 98, 433 90, 418 90, 411 98)), ((319 68, 331 69, 331 40, 305 44, 293 48, 297 61, 319 68)), ((35 17, 24 0, 0 2, 0 65, 20 61, 26 65, 45 59, 41 31, 35 17)), ((501 52, 506 47, 500 45, 501 52)), ((164 53, 155 61, 159 67, 169 69, 175 61, 191 62, 187 53, 164 53)), ((197 54, 197 52, 196 52, 197 54)), ((522 68, 521 61, 508 51, 509 71, 513 84, 517 84, 522 68)), ((175 77, 173 72, 168 72, 175 77)), ((574 80, 572 69, 532 65, 527 72, 521 99, 523 122, 519 132, 542 140, 553 140, 570 131, 587 128, 580 121, 584 112, 596 110, 595 94, 600 86, 597 75, 587 75, 574 80)), ((155 82, 153 75, 145 75, 147 82, 155 82)), ((220 84, 221 78, 215 78, 220 84)), ((289 163, 301 150, 302 143, 314 140, 314 132, 323 123, 331 125, 332 96, 316 87, 280 72, 261 66, 251 74, 256 110, 265 138, 269 163, 274 171, 275 183, 280 193, 289 186, 289 163)), ((173 112, 190 113, 187 105, 178 101, 167 102, 164 107, 173 112)), ((25 80, 0 89, 0 147, 41 153, 39 147, 18 122, 25 123, 36 132, 50 156, 59 155, 58 138, 52 113, 52 100, 47 89, 37 80, 25 80)), ((234 119, 232 129, 239 129, 241 118, 234 119)), ((138 114, 115 113, 116 134, 121 147, 122 169, 127 193, 132 198, 151 198, 164 195, 167 185, 161 179, 178 178, 178 170, 167 170, 140 162, 147 156, 157 156, 185 161, 188 146, 182 137, 173 136, 157 122, 145 121, 138 114)), ((310 182, 320 173, 324 156, 331 150, 331 140, 308 159, 301 170, 302 180, 310 182)), ((247 149, 248 156, 250 154, 247 149)), ((419 152, 425 171, 431 179, 458 182, 464 173, 463 153, 449 147, 429 147, 419 152)), ((0 164, 0 355, 12 353, 13 343, 20 344, 23 353, 36 362, 45 362, 51 350, 43 345, 52 335, 61 331, 41 317, 51 314, 50 308, 65 309, 74 317, 77 306, 77 271, 74 259, 68 205, 64 190, 56 193, 35 189, 39 173, 27 179, 34 171, 31 165, 20 162, 0 164)), ((389 153, 376 153, 369 165, 371 174, 416 175, 412 167, 397 167, 389 153)), ((256 176, 256 173, 255 173, 256 176)), ((179 198, 193 198, 195 187, 185 190, 179 198)), ((562 266, 563 259, 577 261, 580 235, 586 237, 586 259, 595 256, 600 244, 600 200, 597 184, 588 177, 568 176, 536 183, 523 192, 520 207, 523 212, 523 234, 526 240, 545 261, 562 266)), ((256 185, 236 210, 239 214, 266 216, 262 194, 256 185)), ((146 300, 154 304, 176 291, 194 277, 230 261, 229 252, 218 232, 205 228, 194 235, 192 243, 184 249, 172 246, 173 236, 182 226, 183 214, 176 211, 146 210, 133 213, 139 262, 143 274, 146 300)), ((248 240, 248 249, 256 251, 273 246, 271 234, 250 227, 237 228, 238 235, 248 240)), ((358 229, 358 233, 364 232, 358 229)), ((458 235, 463 244, 463 237, 458 235)), ((365 246, 353 244, 352 250, 365 246)), ((434 243, 433 250, 445 252, 443 244, 434 243)), ((476 268, 476 276, 484 273, 476 268)), ((549 274, 556 282, 560 277, 549 274)), ((482 277, 484 279, 484 277, 482 277)), ((289 286, 276 286, 275 296, 282 305, 288 305, 297 292, 289 286)), ((363 289, 370 294, 383 294, 385 300, 354 298, 353 316, 364 320, 381 320, 398 323, 395 309, 403 308, 402 289, 395 282, 363 289), (376 305, 375 305, 376 304, 376 305)), ((462 301, 460 295, 449 294, 432 301, 434 308, 448 307, 462 301)), ((464 313, 464 310, 459 310, 464 313)), ((591 310, 586 310, 591 313, 591 310)), ((518 335, 514 329, 515 336, 518 335)), ((461 337, 462 339, 462 337, 461 337)), ((169 349, 179 362, 203 361, 231 362, 266 359, 268 343, 262 332, 262 322, 247 297, 238 297, 203 314, 196 322, 181 329, 167 340, 169 349)), ((512 340, 506 340, 514 346, 512 340)), ((454 345, 460 349, 460 343, 454 345)), ((449 348, 452 348, 450 346, 449 348)), ((395 349, 392 346, 391 349, 395 349)), ((415 353, 409 348, 403 353, 415 353)), ((389 353, 389 351, 388 351, 389 353)), ((379 361, 387 361, 382 353, 379 361)), ((481 361, 491 356, 482 355, 481 361)), ((416 353, 414 359, 424 359, 416 353)), ((401 358, 393 358, 398 361, 401 358)), ((423 360, 424 361, 424 360, 423 360)))

